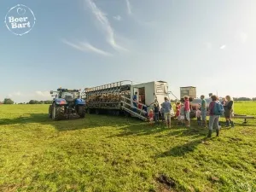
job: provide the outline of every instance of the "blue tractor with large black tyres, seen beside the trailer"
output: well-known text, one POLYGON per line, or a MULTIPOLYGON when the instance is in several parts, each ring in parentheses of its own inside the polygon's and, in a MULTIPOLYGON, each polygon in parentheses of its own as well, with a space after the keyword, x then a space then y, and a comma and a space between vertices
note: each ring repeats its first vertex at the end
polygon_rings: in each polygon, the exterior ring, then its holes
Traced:
POLYGON ((49 118, 53 120, 70 119, 73 116, 85 117, 85 101, 79 90, 58 89, 50 91, 55 96, 49 106, 49 118))

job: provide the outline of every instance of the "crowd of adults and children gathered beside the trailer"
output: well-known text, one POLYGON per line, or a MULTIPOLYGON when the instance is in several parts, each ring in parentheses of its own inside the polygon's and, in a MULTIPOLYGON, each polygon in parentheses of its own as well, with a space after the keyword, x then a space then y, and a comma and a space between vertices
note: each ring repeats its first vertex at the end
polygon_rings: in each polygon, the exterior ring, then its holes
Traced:
MULTIPOLYGON (((136 100, 134 97, 134 102, 136 100)), ((213 127, 216 129, 217 136, 219 136, 219 130, 221 125, 219 123, 220 116, 224 115, 226 120, 226 127, 234 127, 234 122, 232 116, 234 115, 234 102, 230 96, 225 96, 220 102, 218 96, 211 96, 212 102, 209 103, 207 107, 207 101, 205 96, 201 96, 201 104, 196 108, 195 115, 197 119, 197 125, 201 125, 209 129, 208 136, 212 137, 213 127), (207 113, 209 115, 208 124, 207 124, 207 113), (207 126, 208 125, 208 126, 207 126)), ((137 104, 136 104, 137 106, 137 104)), ((147 109, 146 109, 147 110, 147 109)), ((183 97, 183 102, 176 103, 176 113, 175 117, 177 118, 177 125, 183 125, 190 127, 190 111, 191 106, 189 102, 189 96, 183 97)), ((171 115, 172 115, 172 103, 165 97, 165 102, 154 103, 154 108, 149 110, 147 113, 150 125, 155 123, 160 124, 160 119, 166 123, 166 127, 171 128, 171 115), (161 108, 160 108, 161 107, 161 108)))

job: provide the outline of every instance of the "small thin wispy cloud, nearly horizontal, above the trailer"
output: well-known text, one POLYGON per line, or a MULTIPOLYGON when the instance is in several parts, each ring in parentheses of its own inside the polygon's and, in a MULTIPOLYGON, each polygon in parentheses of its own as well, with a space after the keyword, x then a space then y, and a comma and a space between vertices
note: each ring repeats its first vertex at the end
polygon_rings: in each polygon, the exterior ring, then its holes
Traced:
POLYGON ((67 44, 71 47, 73 47, 74 49, 79 49, 80 51, 84 51, 84 52, 94 52, 97 53, 99 55, 104 55, 104 56, 111 56, 110 53, 102 50, 102 49, 97 49, 96 47, 94 47, 93 45, 89 44, 89 43, 79 43, 79 44, 73 44, 69 41, 67 41, 66 39, 62 39, 62 42, 64 44, 67 44))

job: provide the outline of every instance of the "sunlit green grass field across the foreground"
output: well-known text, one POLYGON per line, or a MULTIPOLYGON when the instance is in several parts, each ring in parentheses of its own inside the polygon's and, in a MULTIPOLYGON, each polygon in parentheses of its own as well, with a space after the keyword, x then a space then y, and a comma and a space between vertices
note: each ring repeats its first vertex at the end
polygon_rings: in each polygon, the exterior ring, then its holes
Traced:
MULTIPOLYGON (((256 116, 256 102, 236 103, 256 116)), ((220 137, 137 119, 53 122, 48 105, 0 106, 0 191, 256 191, 256 120, 220 137)))

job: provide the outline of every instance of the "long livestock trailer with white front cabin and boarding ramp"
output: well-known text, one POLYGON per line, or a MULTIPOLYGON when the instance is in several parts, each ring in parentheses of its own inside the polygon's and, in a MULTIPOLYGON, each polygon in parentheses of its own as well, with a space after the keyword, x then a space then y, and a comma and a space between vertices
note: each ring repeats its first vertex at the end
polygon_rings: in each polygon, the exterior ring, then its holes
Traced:
MULTIPOLYGON (((85 88, 82 92, 87 113, 124 114, 145 121, 148 120, 147 113, 154 108, 154 103, 160 105, 165 97, 169 98, 168 84, 165 81, 133 84, 130 80, 124 80, 85 88), (133 96, 136 92, 137 105, 135 106, 133 96)), ((173 110, 172 116, 174 116, 173 110)))

